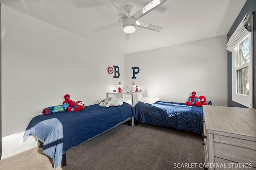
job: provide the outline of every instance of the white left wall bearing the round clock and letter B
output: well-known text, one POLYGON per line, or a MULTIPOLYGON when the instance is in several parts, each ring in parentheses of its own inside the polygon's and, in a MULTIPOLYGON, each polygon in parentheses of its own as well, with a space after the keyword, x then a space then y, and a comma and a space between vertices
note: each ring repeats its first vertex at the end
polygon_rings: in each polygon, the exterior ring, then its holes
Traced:
POLYGON ((5 158, 13 154, 6 148, 16 149, 10 145, 20 146, 21 151, 27 148, 26 142, 9 140, 20 137, 44 108, 62 104, 65 94, 86 106, 106 98, 107 91, 124 82, 124 56, 7 6, 1 9, 5 158), (108 74, 108 66, 113 65, 119 66, 120 78, 108 74))

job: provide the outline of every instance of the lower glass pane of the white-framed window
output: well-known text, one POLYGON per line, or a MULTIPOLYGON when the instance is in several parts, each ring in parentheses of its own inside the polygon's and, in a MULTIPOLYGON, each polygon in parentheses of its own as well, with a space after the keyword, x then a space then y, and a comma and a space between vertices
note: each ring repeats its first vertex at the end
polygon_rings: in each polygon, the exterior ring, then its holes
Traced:
POLYGON ((249 67, 236 71, 236 93, 249 95, 249 67))

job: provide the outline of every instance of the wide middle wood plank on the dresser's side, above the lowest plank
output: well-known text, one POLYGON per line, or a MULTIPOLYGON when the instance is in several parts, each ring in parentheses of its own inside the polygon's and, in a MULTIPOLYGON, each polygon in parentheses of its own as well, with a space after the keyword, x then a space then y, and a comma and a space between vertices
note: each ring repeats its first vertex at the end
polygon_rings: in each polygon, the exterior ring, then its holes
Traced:
POLYGON ((256 150, 244 147, 214 141, 214 157, 238 163, 251 163, 253 167, 256 167, 256 150))

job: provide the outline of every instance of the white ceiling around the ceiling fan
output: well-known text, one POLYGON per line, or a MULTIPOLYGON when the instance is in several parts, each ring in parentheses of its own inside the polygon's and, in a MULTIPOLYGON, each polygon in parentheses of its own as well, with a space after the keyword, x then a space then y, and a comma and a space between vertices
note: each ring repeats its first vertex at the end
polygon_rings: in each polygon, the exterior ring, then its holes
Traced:
MULTIPOLYGON (((112 0, 120 10, 135 12, 151 0, 112 0)), ((122 54, 136 53, 199 39, 226 35, 246 0, 167 0, 139 21, 164 27, 156 32, 140 27, 124 41, 122 25, 101 31, 93 28, 121 22, 99 0, 0 0, 15 10, 56 25, 122 54)))

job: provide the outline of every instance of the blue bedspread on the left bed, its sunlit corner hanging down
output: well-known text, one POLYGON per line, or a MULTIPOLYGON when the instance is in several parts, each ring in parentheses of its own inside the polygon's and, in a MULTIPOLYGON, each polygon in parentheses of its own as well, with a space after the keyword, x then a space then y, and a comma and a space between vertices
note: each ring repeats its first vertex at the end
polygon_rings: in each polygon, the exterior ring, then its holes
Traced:
POLYGON ((42 139, 43 153, 52 158, 57 168, 63 153, 128 117, 132 117, 132 107, 125 102, 122 106, 100 107, 95 104, 82 111, 38 115, 30 121, 23 140, 30 135, 42 139))

